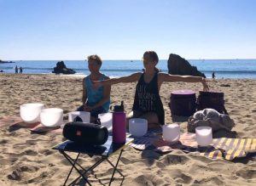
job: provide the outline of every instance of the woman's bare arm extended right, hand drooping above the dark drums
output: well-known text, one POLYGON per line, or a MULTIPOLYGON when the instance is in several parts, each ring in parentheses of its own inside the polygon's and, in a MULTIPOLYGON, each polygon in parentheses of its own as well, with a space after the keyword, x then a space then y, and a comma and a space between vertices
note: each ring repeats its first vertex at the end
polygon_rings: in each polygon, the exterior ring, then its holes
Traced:
POLYGON ((159 78, 160 78, 160 83, 162 82, 201 82, 203 85, 203 90, 204 91, 209 90, 206 79, 201 76, 178 76, 178 75, 160 73, 159 78))

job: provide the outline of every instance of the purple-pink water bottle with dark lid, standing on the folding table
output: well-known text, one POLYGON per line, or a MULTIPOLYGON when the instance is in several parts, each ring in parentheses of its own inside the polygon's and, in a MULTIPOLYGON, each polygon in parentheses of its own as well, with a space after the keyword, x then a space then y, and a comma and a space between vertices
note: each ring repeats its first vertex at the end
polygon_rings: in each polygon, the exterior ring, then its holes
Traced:
POLYGON ((125 144, 126 141, 126 115, 124 102, 114 106, 113 109, 113 143, 125 144))

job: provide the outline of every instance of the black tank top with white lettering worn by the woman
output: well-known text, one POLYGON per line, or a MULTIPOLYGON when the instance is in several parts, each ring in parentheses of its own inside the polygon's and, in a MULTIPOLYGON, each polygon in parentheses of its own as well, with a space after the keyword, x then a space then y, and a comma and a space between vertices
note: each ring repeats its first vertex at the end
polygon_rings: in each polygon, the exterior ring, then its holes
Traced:
POLYGON ((140 77, 136 86, 135 99, 132 110, 138 110, 143 113, 154 112, 161 125, 165 124, 165 111, 159 95, 158 73, 154 74, 151 82, 144 81, 144 73, 140 77))

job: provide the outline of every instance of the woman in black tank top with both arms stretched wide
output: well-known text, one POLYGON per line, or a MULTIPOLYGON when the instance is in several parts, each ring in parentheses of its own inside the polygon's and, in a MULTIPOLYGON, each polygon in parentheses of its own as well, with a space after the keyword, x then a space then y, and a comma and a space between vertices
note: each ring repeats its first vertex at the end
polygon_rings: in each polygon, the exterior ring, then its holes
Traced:
POLYGON ((94 87, 113 85, 119 82, 137 82, 132 111, 127 119, 144 118, 148 120, 149 128, 160 127, 165 124, 165 111, 159 94, 163 82, 201 82, 204 91, 209 88, 206 79, 201 76, 176 76, 160 73, 160 70, 155 67, 158 61, 158 55, 154 51, 147 51, 143 54, 144 72, 105 81, 95 81, 93 82, 94 87))

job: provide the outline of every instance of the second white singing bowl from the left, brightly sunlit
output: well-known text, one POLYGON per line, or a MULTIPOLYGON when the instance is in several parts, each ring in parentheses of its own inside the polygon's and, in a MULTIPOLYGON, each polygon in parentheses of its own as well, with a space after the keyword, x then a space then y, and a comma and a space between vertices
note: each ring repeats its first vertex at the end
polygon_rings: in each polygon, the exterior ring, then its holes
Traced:
POLYGON ((61 126, 63 123, 63 110, 59 108, 44 109, 41 111, 40 120, 44 127, 61 126))

